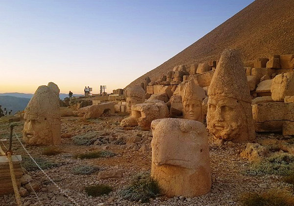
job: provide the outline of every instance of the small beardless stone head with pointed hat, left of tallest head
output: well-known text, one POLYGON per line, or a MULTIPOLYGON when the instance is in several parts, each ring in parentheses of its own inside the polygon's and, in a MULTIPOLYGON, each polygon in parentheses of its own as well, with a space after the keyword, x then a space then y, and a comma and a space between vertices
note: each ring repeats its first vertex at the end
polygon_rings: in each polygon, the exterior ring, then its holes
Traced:
POLYGON ((194 80, 189 80, 182 97, 184 118, 203 123, 202 100, 206 97, 205 91, 196 85, 194 80))

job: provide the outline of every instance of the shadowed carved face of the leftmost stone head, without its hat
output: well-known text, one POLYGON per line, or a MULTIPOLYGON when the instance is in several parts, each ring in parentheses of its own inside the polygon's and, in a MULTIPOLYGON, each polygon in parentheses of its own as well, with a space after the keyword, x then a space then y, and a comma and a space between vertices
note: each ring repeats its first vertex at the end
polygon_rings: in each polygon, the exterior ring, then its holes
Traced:
POLYGON ((25 114, 24 119, 23 138, 26 143, 30 145, 46 145, 52 143, 50 119, 31 114, 25 114))

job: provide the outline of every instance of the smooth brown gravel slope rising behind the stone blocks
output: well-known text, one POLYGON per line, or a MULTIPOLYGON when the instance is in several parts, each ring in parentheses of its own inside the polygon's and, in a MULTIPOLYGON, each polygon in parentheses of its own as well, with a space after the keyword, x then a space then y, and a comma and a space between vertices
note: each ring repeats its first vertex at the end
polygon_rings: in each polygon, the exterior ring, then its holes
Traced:
POLYGON ((255 0, 194 44, 128 86, 140 85, 146 76, 152 81, 157 80, 176 65, 219 59, 226 48, 239 49, 243 60, 294 53, 293 11, 293 0, 255 0))

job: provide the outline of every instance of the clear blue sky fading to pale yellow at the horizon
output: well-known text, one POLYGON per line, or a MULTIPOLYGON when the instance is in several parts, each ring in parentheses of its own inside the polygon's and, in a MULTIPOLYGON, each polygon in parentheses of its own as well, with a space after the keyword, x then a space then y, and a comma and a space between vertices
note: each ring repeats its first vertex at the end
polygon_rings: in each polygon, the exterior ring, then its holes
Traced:
POLYGON ((0 0, 0 93, 123 88, 253 0, 0 0))

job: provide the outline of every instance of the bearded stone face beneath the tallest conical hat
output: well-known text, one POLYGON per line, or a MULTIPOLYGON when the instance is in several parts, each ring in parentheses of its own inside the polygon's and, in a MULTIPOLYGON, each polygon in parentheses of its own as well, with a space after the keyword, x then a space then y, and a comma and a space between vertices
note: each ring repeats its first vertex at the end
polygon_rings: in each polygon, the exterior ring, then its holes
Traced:
POLYGON ((247 126, 240 101, 220 95, 209 96, 206 118, 208 129, 220 139, 235 139, 247 126))

